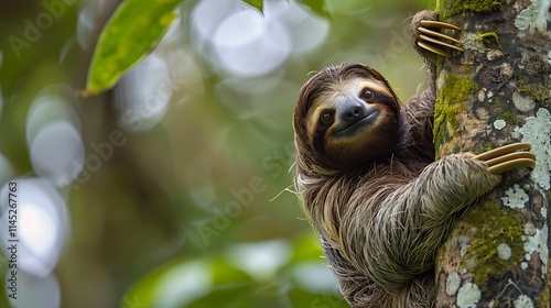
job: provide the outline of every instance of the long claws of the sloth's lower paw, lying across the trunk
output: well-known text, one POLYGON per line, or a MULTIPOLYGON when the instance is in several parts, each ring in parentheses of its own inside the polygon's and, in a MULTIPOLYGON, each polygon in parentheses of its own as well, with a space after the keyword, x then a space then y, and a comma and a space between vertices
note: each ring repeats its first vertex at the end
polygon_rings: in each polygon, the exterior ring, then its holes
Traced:
POLYGON ((536 155, 530 152, 517 152, 518 150, 530 150, 530 144, 505 145, 476 155, 475 158, 485 162, 488 170, 496 175, 515 168, 536 167, 536 155))

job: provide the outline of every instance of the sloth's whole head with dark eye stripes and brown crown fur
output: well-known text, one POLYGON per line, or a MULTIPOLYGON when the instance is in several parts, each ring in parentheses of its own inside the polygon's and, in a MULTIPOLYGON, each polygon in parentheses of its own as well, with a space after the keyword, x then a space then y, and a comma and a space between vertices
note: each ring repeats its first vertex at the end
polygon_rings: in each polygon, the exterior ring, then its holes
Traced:
POLYGON ((400 102, 388 81, 363 64, 324 68, 302 87, 293 125, 299 168, 331 174, 391 155, 400 102))

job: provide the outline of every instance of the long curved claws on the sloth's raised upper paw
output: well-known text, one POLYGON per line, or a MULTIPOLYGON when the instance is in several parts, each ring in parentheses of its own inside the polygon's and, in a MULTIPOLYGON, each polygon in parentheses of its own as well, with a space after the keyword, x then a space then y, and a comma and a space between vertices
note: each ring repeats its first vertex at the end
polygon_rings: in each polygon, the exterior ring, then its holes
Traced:
POLYGON ((419 35, 417 35, 418 40, 415 44, 420 48, 445 57, 452 56, 450 52, 445 51, 446 48, 463 52, 463 48, 457 46, 463 45, 463 43, 439 32, 440 29, 461 31, 461 28, 450 23, 432 20, 421 20, 419 23, 421 26, 418 26, 417 29, 419 31, 419 35))

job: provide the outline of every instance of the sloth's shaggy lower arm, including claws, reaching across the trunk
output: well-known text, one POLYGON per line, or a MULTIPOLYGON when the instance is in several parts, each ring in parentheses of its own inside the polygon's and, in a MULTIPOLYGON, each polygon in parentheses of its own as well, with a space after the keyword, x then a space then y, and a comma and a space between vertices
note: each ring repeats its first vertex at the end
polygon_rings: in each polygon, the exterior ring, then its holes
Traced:
POLYGON ((345 215, 344 255, 367 277, 387 289, 400 289, 433 266, 455 213, 488 193, 500 173, 533 167, 526 143, 475 156, 453 154, 430 164, 401 186, 385 185, 345 215), (363 202, 363 204, 361 204, 363 202))

